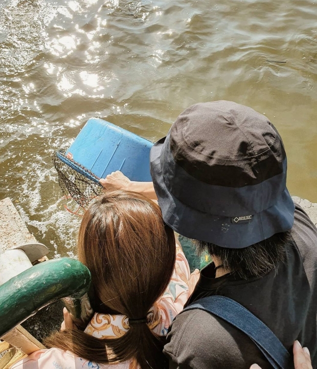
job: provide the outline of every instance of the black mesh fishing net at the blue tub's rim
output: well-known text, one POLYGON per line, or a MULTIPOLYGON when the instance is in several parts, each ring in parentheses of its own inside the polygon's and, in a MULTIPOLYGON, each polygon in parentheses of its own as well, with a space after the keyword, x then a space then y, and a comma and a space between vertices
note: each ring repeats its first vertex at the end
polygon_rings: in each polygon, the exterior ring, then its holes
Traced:
POLYGON ((58 183, 65 198, 71 198, 81 207, 86 207, 96 196, 102 194, 99 178, 87 168, 65 156, 65 151, 57 150, 52 155, 57 171, 58 183))

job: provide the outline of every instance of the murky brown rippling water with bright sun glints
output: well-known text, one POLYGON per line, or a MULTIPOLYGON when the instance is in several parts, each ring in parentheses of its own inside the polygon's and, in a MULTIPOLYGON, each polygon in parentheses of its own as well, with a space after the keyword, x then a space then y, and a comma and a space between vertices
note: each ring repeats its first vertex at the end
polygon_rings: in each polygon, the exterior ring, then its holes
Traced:
POLYGON ((9 0, 0 4, 0 199, 51 257, 73 255, 52 152, 90 117, 163 137, 198 101, 233 100, 279 129, 288 188, 317 202, 317 3, 9 0))

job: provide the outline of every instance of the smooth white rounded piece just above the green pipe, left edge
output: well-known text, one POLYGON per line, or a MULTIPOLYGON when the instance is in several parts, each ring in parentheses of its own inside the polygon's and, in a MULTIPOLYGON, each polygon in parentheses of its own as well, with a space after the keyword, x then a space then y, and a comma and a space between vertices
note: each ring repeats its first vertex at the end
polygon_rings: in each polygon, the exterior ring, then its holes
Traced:
POLYGON ((20 249, 7 250, 0 254, 0 286, 31 267, 27 254, 20 249))

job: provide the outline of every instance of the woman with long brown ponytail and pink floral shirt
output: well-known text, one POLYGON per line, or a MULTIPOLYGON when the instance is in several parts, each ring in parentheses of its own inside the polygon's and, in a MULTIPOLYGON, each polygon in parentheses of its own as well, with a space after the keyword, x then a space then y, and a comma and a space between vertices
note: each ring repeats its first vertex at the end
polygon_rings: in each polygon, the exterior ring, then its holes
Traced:
POLYGON ((190 271, 160 207, 108 192, 83 216, 78 257, 92 273, 92 320, 84 332, 55 333, 44 342, 50 350, 13 368, 164 368, 164 335, 190 295, 190 271))

